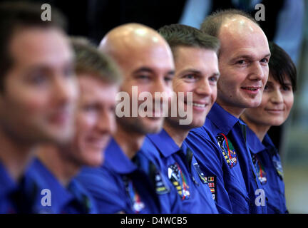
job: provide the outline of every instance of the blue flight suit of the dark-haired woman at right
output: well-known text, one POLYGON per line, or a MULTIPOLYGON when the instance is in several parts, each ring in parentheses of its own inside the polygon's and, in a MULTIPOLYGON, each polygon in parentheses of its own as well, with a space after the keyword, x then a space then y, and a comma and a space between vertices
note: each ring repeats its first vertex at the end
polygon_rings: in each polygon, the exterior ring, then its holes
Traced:
POLYGON ((252 153, 252 162, 257 171, 267 201, 267 213, 288 213, 284 197, 284 181, 279 153, 269 135, 261 142, 257 135, 247 128, 247 142, 252 153))

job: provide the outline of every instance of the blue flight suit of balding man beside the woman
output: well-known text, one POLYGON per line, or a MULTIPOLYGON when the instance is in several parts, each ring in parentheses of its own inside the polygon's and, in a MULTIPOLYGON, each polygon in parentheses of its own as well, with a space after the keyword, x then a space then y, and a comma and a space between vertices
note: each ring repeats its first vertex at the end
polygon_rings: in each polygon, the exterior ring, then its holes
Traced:
POLYGON ((191 130, 185 140, 205 175, 215 178, 215 200, 220 213, 267 213, 264 201, 256 202, 256 191, 262 190, 262 186, 252 164, 245 131, 245 123, 215 103, 205 125, 191 130))

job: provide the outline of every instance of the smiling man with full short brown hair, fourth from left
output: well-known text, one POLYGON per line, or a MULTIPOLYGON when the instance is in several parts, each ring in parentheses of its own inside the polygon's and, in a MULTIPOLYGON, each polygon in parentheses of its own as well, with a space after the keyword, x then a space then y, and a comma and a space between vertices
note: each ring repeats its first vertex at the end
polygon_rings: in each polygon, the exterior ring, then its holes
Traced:
POLYGON ((175 59, 173 90, 177 99, 170 103, 169 113, 178 104, 178 115, 168 115, 163 131, 147 135, 143 147, 149 153, 156 152, 162 162, 160 169, 178 191, 185 213, 217 213, 207 177, 183 141, 190 129, 203 125, 216 100, 219 41, 197 28, 180 24, 164 26, 158 31, 169 43, 175 59), (190 122, 181 124, 181 110, 187 111, 186 120, 190 122))

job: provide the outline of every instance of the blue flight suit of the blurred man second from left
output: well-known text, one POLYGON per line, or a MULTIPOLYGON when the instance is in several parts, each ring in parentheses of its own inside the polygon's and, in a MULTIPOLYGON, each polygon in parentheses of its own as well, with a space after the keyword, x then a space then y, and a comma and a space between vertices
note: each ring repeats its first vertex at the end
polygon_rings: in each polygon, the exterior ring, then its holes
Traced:
POLYGON ((31 163, 25 179, 26 194, 32 202, 31 213, 94 214, 97 212, 93 199, 76 180, 71 180, 68 187, 63 187, 37 158, 31 163), (51 198, 48 198, 49 196, 51 198))

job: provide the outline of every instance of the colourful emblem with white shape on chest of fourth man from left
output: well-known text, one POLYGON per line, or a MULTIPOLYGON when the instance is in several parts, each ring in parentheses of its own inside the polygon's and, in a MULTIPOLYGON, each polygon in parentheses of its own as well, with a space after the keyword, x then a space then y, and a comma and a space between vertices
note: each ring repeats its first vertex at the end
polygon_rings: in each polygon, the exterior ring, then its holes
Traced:
POLYGON ((175 162, 173 165, 169 165, 168 178, 175 186, 175 189, 178 191, 178 194, 182 200, 190 198, 190 190, 187 179, 178 163, 175 162))

